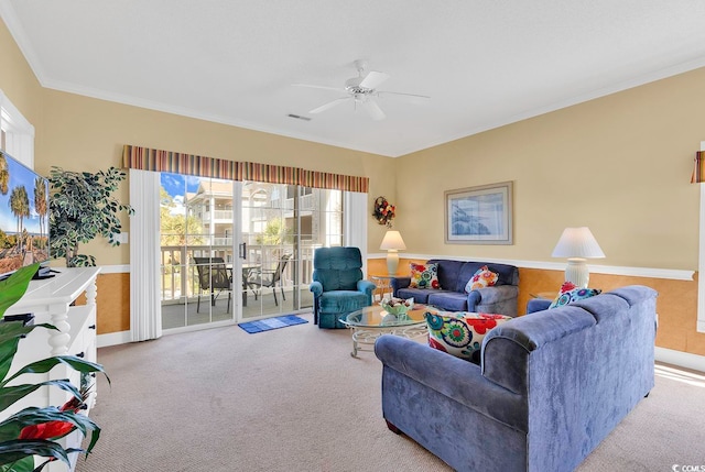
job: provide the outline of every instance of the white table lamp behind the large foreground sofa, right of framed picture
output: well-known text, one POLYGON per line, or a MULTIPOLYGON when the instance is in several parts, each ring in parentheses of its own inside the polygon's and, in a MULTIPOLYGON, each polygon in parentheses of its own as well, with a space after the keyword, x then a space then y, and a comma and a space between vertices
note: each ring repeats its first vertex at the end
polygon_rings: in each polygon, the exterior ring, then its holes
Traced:
POLYGON ((586 259, 605 257, 597 240, 587 227, 566 228, 553 250, 553 257, 567 257, 565 282, 572 282, 578 288, 587 288, 590 279, 586 259))

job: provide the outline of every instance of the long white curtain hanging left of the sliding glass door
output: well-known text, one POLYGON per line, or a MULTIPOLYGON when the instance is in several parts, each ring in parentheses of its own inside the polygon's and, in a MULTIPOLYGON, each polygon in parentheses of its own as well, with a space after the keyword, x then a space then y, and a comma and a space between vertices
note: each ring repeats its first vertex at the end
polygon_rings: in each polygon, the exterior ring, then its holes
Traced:
POLYGON ((130 337, 147 341, 162 336, 160 303, 160 174, 130 169, 130 337))

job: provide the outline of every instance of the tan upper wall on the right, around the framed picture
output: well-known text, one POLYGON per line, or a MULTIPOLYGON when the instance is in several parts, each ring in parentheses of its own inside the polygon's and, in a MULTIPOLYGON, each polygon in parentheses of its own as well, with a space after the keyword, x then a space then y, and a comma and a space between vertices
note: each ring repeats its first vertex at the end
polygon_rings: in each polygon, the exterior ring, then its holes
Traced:
POLYGON ((697 270, 705 68, 462 139, 397 161, 399 229, 422 254, 552 261, 587 226, 596 264, 697 270), (444 244, 444 190, 512 180, 514 244, 444 244))

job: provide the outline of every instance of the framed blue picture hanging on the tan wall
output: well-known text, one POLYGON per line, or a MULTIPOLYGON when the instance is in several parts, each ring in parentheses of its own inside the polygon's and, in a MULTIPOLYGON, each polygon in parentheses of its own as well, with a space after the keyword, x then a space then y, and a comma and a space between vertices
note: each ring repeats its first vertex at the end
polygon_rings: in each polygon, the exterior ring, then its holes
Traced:
POLYGON ((513 244, 513 183, 446 190, 446 244, 513 244))

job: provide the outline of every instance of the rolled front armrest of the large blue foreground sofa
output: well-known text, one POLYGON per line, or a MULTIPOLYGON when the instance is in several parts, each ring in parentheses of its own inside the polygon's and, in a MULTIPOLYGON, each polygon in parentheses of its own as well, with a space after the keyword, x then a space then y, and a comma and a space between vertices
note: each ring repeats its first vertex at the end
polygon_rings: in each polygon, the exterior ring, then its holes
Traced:
POLYGON ((375 354, 384 369, 392 369, 490 418, 528 430, 527 398, 485 378, 480 367, 471 362, 393 334, 377 339, 375 354))

